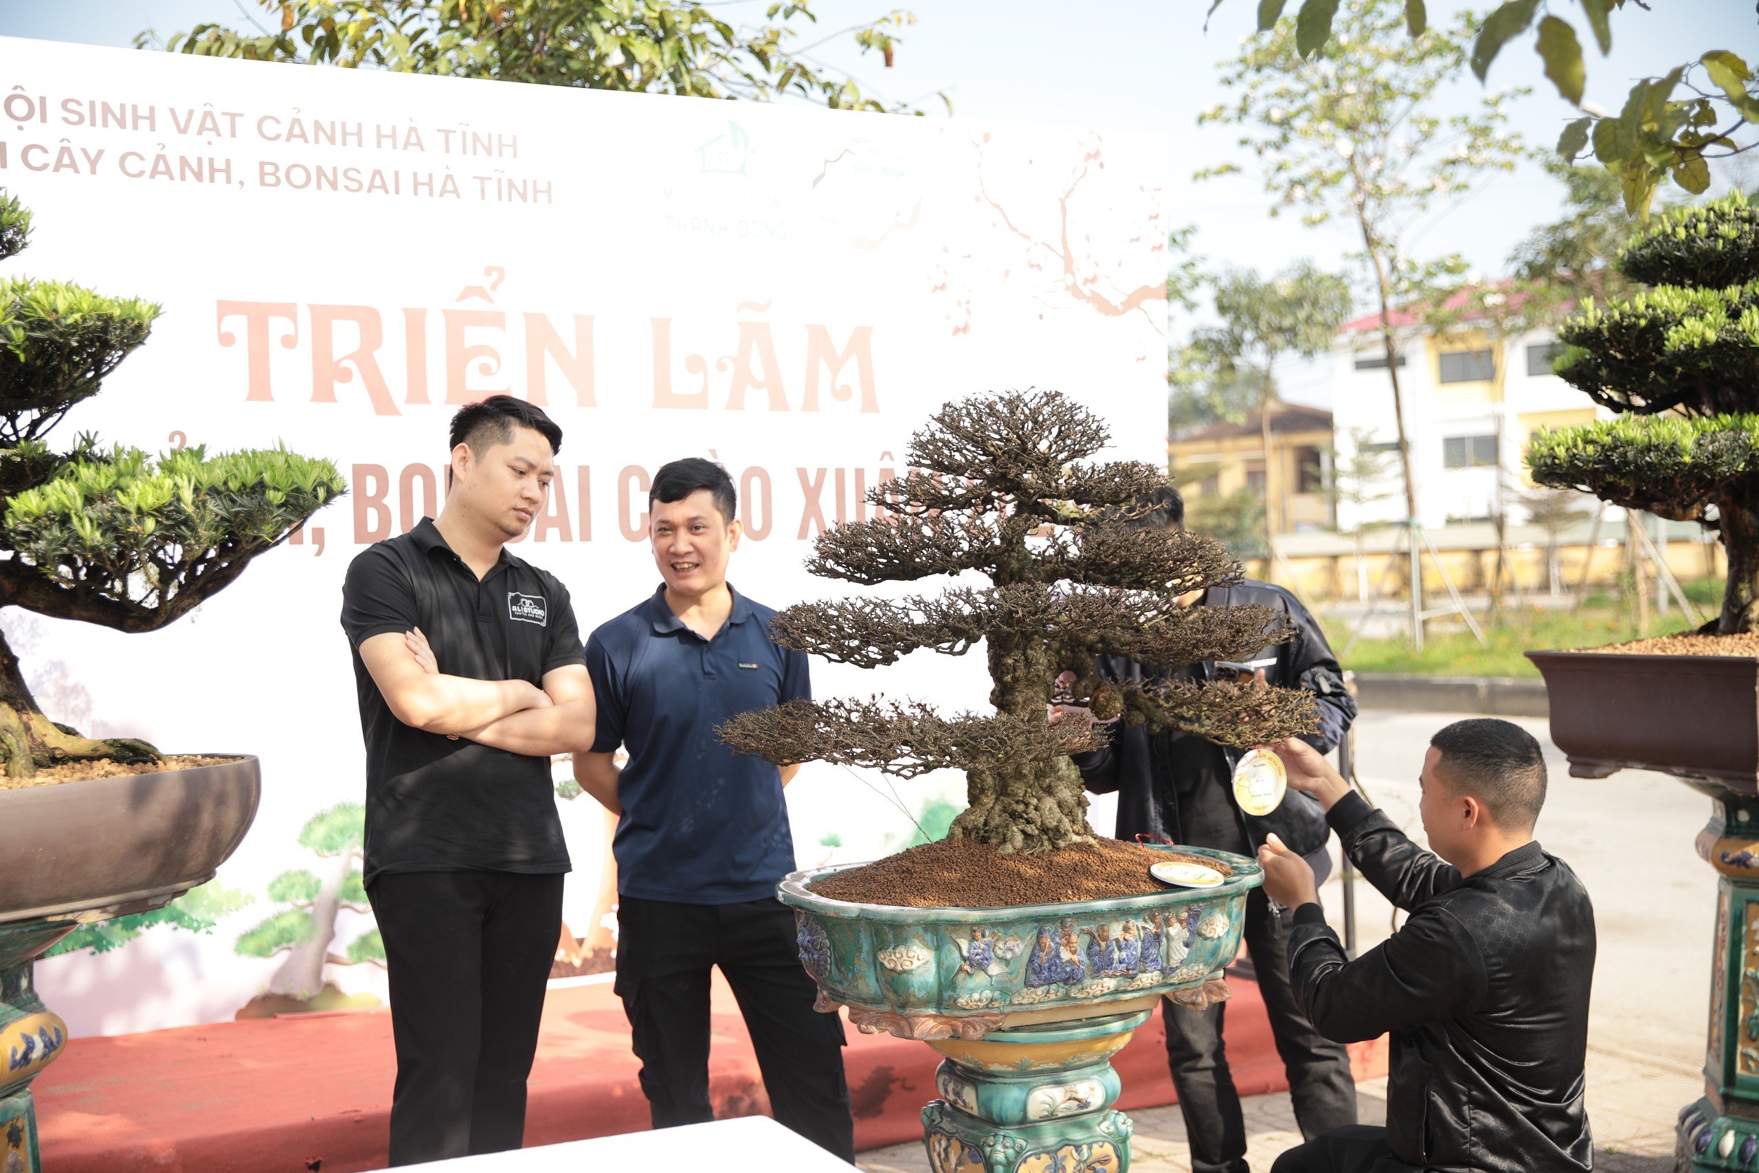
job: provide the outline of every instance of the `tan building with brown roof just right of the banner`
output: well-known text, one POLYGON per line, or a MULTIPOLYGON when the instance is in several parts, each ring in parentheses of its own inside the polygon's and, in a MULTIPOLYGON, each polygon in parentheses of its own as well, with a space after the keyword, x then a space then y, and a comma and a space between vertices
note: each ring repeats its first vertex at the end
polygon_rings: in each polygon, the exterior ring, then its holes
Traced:
MULTIPOLYGON (((1244 424, 1210 424, 1166 445, 1166 457, 1186 503, 1252 487, 1265 492, 1265 433, 1258 412, 1244 424)), ((1298 403, 1270 406, 1272 533, 1330 529, 1333 510, 1325 496, 1332 461, 1332 413, 1298 403)))

